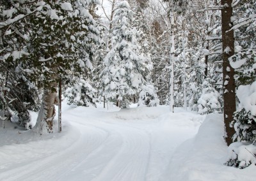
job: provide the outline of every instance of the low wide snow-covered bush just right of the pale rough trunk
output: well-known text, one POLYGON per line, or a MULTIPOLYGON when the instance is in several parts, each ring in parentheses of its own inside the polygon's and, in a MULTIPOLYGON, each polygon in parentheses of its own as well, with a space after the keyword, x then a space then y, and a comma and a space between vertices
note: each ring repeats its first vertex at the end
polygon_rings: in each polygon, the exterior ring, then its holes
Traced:
POLYGON ((81 78, 78 82, 70 85, 64 92, 68 105, 95 106, 95 95, 97 91, 90 85, 90 82, 81 78))

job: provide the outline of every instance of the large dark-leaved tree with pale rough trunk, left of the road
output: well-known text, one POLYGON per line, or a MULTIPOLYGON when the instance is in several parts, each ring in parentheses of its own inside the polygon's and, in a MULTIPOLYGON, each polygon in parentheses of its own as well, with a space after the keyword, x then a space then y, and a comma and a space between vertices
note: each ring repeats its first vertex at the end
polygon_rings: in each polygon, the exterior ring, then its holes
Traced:
POLYGON ((44 87, 39 113, 42 117, 38 117, 36 127, 43 127, 48 133, 53 130, 57 82, 60 78, 68 79, 69 75, 79 76, 86 67, 92 66, 92 43, 97 41, 99 33, 90 13, 93 3, 95 1, 51 1, 31 20, 33 41, 28 47, 29 56, 24 61, 40 62, 33 63, 30 68, 36 68, 31 75, 44 87))

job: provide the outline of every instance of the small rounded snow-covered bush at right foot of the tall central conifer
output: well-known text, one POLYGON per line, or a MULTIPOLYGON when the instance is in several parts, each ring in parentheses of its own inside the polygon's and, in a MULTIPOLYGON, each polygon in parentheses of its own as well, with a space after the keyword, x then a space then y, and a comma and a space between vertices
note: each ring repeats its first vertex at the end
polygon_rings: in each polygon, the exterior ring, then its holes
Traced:
POLYGON ((138 102, 138 106, 141 105, 146 105, 148 107, 159 105, 159 99, 153 85, 143 85, 138 102))

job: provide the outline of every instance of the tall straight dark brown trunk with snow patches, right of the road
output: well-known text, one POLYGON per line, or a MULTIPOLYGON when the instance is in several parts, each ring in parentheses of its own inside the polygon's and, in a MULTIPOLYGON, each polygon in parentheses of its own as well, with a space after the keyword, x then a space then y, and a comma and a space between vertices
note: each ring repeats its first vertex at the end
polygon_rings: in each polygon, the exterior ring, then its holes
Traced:
POLYGON ((224 101, 224 122, 225 122, 225 140, 230 145, 232 136, 235 133, 234 128, 230 127, 233 120, 233 113, 236 111, 236 94, 234 68, 230 66, 228 58, 234 55, 234 31, 229 31, 232 27, 230 18, 232 17, 232 0, 221 0, 223 9, 221 10, 222 25, 222 58, 223 58, 223 101, 224 101))

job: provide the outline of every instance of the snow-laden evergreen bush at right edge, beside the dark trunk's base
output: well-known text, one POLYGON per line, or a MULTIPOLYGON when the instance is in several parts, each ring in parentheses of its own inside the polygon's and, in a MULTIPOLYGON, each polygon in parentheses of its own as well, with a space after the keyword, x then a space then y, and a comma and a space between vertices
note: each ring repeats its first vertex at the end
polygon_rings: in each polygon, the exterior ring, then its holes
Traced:
POLYGON ((252 85, 240 85, 237 89, 239 106, 232 122, 236 133, 228 147, 228 166, 246 168, 256 163, 256 81, 252 85))

